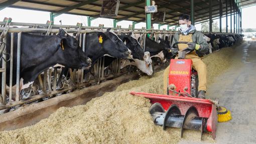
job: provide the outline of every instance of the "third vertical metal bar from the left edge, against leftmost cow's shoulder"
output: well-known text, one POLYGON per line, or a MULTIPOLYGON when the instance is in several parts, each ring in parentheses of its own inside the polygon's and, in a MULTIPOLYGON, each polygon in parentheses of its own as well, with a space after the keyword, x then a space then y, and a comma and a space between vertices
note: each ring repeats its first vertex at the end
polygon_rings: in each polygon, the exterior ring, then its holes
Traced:
POLYGON ((22 33, 18 33, 17 44, 17 74, 16 74, 16 101, 20 100, 20 71, 21 71, 21 36, 22 33))

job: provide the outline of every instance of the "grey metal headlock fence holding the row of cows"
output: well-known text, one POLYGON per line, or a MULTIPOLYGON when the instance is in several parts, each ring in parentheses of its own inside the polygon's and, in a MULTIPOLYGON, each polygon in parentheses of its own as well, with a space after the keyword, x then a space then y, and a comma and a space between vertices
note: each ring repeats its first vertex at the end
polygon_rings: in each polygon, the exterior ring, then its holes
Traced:
MULTIPOLYGON (((10 109, 18 105, 22 105, 25 103, 41 101, 45 98, 51 98, 56 95, 60 95, 63 92, 67 92, 69 90, 75 88, 86 87, 92 84, 100 83, 104 80, 109 80, 114 77, 120 76, 125 72, 120 72, 120 59, 116 59, 112 62, 109 66, 109 69, 105 69, 104 62, 105 57, 101 57, 97 60, 96 64, 92 68, 92 72, 94 75, 87 73, 84 77, 83 70, 71 70, 69 69, 70 73, 70 82, 65 79, 61 79, 63 84, 61 86, 57 85, 58 79, 62 78, 62 76, 58 72, 58 68, 51 68, 45 70, 43 74, 40 74, 35 80, 35 82, 27 89, 20 91, 20 68, 21 68, 21 37, 22 33, 41 33, 44 35, 56 35, 59 32, 59 28, 65 29, 65 31, 69 34, 73 34, 77 36, 79 39, 79 45, 83 51, 85 51, 85 40, 87 33, 95 33, 95 32, 104 32, 106 31, 106 27, 103 25, 99 25, 99 27, 86 27, 82 26, 78 23, 76 26, 69 26, 69 25, 53 25, 52 22, 47 24, 30 24, 30 23, 13 23, 11 22, 12 19, 9 18, 4 22, 0 22, 0 32, 2 33, 0 36, 0 53, 1 53, 1 60, 2 60, 2 68, 0 68, 0 73, 2 73, 2 93, 0 97, 0 110, 3 109, 10 109), (27 28, 23 28, 27 27, 27 28), (11 33, 11 53, 8 54, 6 52, 6 43, 7 38, 6 34, 11 33), (17 44, 17 55, 14 55, 14 33, 18 33, 18 44, 17 44), (15 93, 12 93, 13 88, 13 57, 17 57, 17 75, 16 75, 16 89, 15 93), (7 59, 8 58, 8 59, 7 59), (8 84, 9 91, 7 91, 7 61, 10 60, 10 83, 8 84), (43 77, 43 78, 42 78, 43 77), (68 85, 70 84, 71 85, 68 85), (8 94, 7 94, 8 92, 8 94)), ((121 28, 117 26, 117 28, 111 28, 115 33, 130 33, 133 32, 136 36, 141 37, 141 45, 145 50, 145 39, 146 35, 150 34, 150 37, 154 37, 155 41, 158 38, 164 39, 165 36, 168 36, 169 42, 171 43, 171 35, 173 35, 174 31, 167 31, 167 30, 146 30, 143 29, 132 29, 132 28, 121 28)))

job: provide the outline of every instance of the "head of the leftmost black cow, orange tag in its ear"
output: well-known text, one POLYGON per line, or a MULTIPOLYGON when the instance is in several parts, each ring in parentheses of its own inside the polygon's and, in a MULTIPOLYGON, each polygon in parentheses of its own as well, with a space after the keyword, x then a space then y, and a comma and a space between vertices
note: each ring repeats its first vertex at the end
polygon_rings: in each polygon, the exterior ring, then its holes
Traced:
POLYGON ((75 38, 69 36, 63 29, 59 30, 57 37, 59 64, 75 69, 88 69, 91 66, 91 59, 85 55, 75 38))

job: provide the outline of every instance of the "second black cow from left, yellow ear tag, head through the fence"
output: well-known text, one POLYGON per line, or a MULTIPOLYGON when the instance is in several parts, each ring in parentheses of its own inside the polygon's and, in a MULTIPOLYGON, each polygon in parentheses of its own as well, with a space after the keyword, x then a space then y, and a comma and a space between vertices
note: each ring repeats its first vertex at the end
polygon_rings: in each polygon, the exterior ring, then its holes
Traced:
MULTIPOLYGON (((111 30, 111 28, 108 28, 106 32, 87 33, 85 38, 85 53, 86 56, 92 60, 92 67, 97 62, 97 60, 103 56, 120 59, 132 58, 131 50, 127 48, 127 46, 111 30)), ((81 42, 81 44, 83 45, 83 42, 81 42)), ((85 70, 84 75, 88 72, 91 72, 91 68, 85 70)), ((69 77, 69 75, 67 75, 68 68, 64 68, 61 73, 66 75, 67 78, 69 77)), ((61 78, 58 80, 57 85, 60 83, 61 78)))

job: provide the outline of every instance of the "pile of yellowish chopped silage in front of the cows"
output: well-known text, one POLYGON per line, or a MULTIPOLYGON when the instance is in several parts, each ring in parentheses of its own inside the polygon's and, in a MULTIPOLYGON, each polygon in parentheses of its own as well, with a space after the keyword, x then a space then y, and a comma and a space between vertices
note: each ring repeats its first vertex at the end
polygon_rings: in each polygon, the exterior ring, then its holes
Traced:
MULTIPOLYGON (((209 83, 228 67, 232 51, 225 48, 204 58, 209 83)), ((155 125, 148 112, 149 99, 129 94, 161 93, 162 74, 124 83, 86 105, 59 108, 33 126, 0 132, 0 143, 177 143, 180 128, 163 130, 155 125)), ((184 136, 200 140, 200 131, 185 130, 184 136)), ((203 139, 211 141, 210 134, 203 139)))

